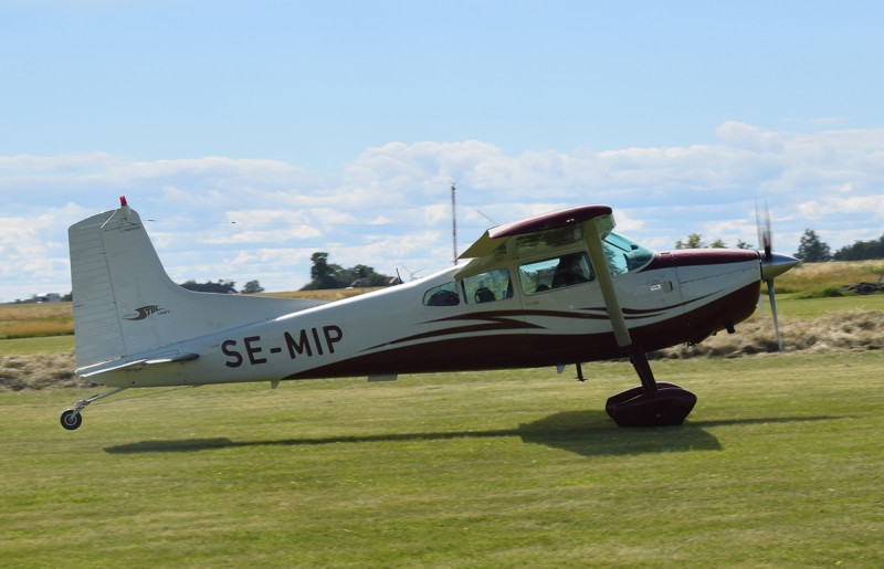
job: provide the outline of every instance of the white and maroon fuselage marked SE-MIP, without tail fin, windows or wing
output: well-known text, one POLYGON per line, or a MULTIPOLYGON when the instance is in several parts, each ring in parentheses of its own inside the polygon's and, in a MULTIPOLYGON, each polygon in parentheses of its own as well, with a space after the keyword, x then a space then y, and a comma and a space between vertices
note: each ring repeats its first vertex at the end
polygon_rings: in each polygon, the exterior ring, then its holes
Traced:
MULTIPOLYGON (((514 262, 501 266, 517 271, 514 262)), ((120 367, 95 380, 115 387, 275 382, 623 357, 597 282, 530 295, 515 286, 511 297, 487 304, 425 305, 427 292, 453 282, 460 268, 180 341, 167 350, 198 357, 120 367)), ((759 257, 734 250, 656 253, 614 284, 633 341, 661 349, 699 341, 749 317, 758 302, 759 257)), ((128 325, 175 317, 161 308, 128 325)))

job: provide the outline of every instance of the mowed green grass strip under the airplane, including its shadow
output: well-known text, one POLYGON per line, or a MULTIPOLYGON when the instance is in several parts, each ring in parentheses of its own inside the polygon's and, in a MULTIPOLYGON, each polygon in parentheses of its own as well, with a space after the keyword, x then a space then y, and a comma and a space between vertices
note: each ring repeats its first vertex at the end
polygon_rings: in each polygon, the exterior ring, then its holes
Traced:
POLYGON ((884 352, 0 393, 4 567, 880 567, 884 352), (96 390, 101 391, 101 389, 96 390), (152 396, 145 397, 147 393, 152 396))

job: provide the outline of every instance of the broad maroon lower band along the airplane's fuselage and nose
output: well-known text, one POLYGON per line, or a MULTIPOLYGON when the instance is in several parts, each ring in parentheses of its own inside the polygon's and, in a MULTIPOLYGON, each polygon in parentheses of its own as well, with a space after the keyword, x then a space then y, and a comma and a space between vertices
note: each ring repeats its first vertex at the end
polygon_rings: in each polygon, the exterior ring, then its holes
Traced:
MULTIPOLYGON (((699 341, 727 324, 737 324, 751 316, 759 291, 760 282, 756 282, 677 317, 631 328, 632 343, 645 351, 652 351, 699 341)), ((391 347, 293 373, 284 379, 532 368, 624 355, 612 333, 562 335, 509 330, 391 347)))

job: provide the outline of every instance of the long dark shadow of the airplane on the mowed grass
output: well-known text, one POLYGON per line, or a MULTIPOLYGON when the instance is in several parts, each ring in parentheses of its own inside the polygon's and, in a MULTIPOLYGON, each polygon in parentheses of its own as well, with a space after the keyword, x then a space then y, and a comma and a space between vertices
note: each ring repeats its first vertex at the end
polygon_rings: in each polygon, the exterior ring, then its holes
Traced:
POLYGON ((141 441, 108 446, 109 454, 175 453, 248 446, 308 446, 338 443, 396 441, 444 441, 449 439, 495 439, 518 436, 526 443, 544 444, 583 456, 631 455, 644 453, 719 451, 723 449, 705 428, 765 423, 827 421, 833 417, 756 418, 722 421, 690 421, 680 426, 621 429, 604 411, 564 411, 515 429, 451 431, 427 433, 352 434, 264 441, 231 441, 227 438, 141 441))

